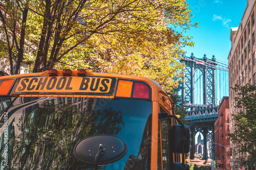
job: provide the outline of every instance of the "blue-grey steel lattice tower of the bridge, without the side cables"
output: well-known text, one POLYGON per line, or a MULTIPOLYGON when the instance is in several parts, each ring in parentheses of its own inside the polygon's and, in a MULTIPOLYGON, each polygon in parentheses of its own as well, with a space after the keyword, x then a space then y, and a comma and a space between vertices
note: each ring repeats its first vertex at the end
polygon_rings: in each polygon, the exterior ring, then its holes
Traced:
MULTIPOLYGON (((185 64, 184 82, 182 84, 182 97, 185 105, 190 108, 188 115, 185 116, 187 125, 190 127, 190 159, 196 156, 195 136, 198 132, 203 134, 203 158, 214 159, 214 123, 218 119, 218 107, 216 101, 216 69, 220 68, 215 56, 208 60, 206 55, 203 59, 195 58, 192 53, 190 58, 183 57, 185 64), (201 77, 195 76, 200 69, 203 76, 203 105, 195 104, 195 82, 201 77), (195 80, 197 79, 197 80, 195 80)), ((197 94, 196 94, 197 95, 197 94)))

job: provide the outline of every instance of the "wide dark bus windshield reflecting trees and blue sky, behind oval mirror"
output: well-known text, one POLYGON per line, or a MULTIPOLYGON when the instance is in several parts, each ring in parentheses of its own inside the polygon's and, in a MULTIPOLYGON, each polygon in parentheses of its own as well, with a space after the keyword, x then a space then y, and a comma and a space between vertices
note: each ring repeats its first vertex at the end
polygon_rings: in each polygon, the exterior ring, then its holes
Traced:
POLYGON ((150 169, 151 101, 47 94, 0 100, 1 169, 5 163, 10 169, 94 169, 78 162, 73 150, 96 134, 116 135, 127 144, 123 158, 99 169, 150 169))

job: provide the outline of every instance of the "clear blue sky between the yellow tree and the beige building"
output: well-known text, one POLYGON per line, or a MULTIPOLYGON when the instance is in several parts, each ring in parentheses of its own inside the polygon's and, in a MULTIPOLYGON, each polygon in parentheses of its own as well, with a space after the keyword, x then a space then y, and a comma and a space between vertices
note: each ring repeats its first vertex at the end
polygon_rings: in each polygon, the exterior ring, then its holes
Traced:
POLYGON ((197 58, 208 59, 215 55, 217 60, 228 63, 231 48, 231 27, 241 22, 247 0, 187 0, 191 22, 200 22, 200 28, 191 28, 185 35, 193 36, 194 47, 184 47, 185 56, 194 53, 197 58))

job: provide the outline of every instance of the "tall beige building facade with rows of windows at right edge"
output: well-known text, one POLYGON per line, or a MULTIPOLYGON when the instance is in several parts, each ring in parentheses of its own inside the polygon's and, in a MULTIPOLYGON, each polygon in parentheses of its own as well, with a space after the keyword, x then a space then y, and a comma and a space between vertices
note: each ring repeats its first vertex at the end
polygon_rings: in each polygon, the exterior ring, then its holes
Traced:
MULTIPOLYGON (((234 85, 256 85, 256 0, 248 0, 241 23, 237 28, 231 28, 231 50, 228 56, 229 87, 234 85)), ((229 88, 229 125, 230 133, 234 132, 232 115, 238 112, 234 101, 235 92, 229 88)), ((230 141, 230 165, 231 169, 239 169, 240 158, 246 157, 246 153, 239 153, 238 148, 230 141), (237 166, 237 167, 236 167, 237 166)))

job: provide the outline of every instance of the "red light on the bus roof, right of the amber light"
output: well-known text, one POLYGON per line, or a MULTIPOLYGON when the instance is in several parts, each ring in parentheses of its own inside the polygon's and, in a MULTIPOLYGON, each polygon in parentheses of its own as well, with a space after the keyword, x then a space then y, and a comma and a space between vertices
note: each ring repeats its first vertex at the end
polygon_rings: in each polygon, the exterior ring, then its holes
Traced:
POLYGON ((144 83, 135 82, 133 98, 150 99, 150 88, 144 83))

